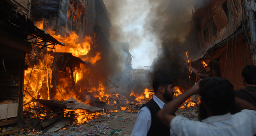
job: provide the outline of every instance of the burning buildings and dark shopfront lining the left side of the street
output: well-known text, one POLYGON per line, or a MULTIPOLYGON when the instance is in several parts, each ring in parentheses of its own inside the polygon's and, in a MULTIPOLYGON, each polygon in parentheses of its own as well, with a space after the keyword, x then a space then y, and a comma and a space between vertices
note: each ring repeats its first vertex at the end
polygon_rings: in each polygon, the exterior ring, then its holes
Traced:
MULTIPOLYGON (((0 57, 3 63, 0 66, 0 86, 1 93, 6 94, 1 96, 1 101, 11 102, 0 105, 0 126, 37 118, 41 121, 35 126, 37 130, 59 129, 60 126, 49 126, 56 121, 68 124, 72 121, 71 114, 76 114, 61 110, 57 116, 52 115, 57 113, 54 109, 59 109, 54 105, 68 109, 69 103, 73 105, 77 101, 73 98, 69 99, 72 102, 63 100, 72 95, 85 102, 90 96, 87 93, 93 95, 86 88, 108 82, 107 78, 101 79, 101 82, 92 81, 87 75, 88 69, 93 68, 91 65, 96 61, 102 61, 98 64, 100 68, 107 63, 104 56, 110 48, 111 24, 103 0, 3 0, 1 7, 0 29, 3 33, 0 37, 0 57), (71 36, 76 38, 74 44, 70 43, 71 36), (70 39, 63 40, 66 37, 70 39), (67 47, 72 47, 78 53, 73 53, 67 47), (79 52, 84 50, 86 53, 79 52), (100 56, 103 57, 100 59, 100 56), (84 77, 80 77, 78 72, 84 77), (81 79, 83 81, 78 82, 81 79), (42 104, 39 101, 47 105, 47 110, 39 106, 39 103, 42 104), (60 115, 64 117, 64 114, 68 118, 60 120, 60 115)), ((107 86, 107 83, 104 85, 107 86)), ((95 90, 99 91, 97 88, 95 90)), ((105 104, 99 98, 97 101, 90 99, 93 106, 105 104)), ((101 110, 78 105, 88 110, 85 113, 101 110)))

